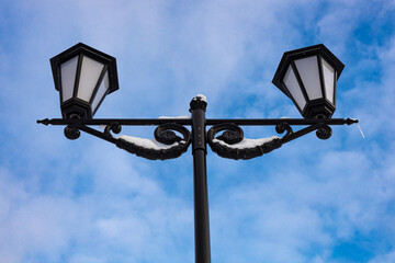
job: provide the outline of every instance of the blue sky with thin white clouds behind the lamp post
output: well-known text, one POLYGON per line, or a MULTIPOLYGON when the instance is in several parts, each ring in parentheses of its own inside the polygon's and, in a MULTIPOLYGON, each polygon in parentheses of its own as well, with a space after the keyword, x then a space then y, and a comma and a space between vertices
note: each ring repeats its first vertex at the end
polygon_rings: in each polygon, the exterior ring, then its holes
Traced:
MULTIPOLYGON (((95 117, 300 117, 271 84, 282 54, 325 44, 345 65, 334 127, 270 155, 208 151, 212 261, 395 262, 395 2, 0 1, 2 263, 193 262, 192 156, 149 161, 61 127, 49 58, 82 42, 117 59, 95 117)), ((154 128, 123 134, 153 138, 154 128)), ((246 137, 276 135, 246 128, 246 137)))

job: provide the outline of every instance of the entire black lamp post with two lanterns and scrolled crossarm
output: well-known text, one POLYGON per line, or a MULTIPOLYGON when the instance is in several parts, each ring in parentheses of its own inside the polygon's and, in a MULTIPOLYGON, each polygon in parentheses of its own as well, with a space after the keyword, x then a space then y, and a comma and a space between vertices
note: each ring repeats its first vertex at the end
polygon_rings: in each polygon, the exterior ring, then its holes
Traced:
POLYGON ((210 227, 206 175, 207 145, 224 158, 251 159, 283 144, 316 130, 320 139, 331 136, 329 125, 358 123, 351 118, 331 118, 336 110, 336 82, 343 65, 324 45, 287 52, 281 59, 273 83, 295 103, 304 118, 207 119, 203 95, 190 103, 191 118, 92 118, 105 95, 117 90, 115 58, 84 44, 77 44, 50 59, 55 88, 60 93, 63 118, 42 119, 44 125, 66 125, 65 135, 77 139, 80 130, 150 160, 178 158, 192 144, 195 224, 195 262, 210 263, 210 227), (91 125, 105 125, 104 130, 91 125), (127 136, 114 137, 122 125, 153 125, 150 147, 127 136), (184 126, 191 126, 191 130, 184 126), (206 132, 206 127, 211 128, 206 132), (247 141, 240 126, 275 126, 282 137, 247 141), (296 132, 291 126, 306 126, 296 132), (174 132, 180 134, 178 136, 174 132), (221 136, 216 135, 224 132, 221 136), (246 142, 247 141, 247 142, 246 142))

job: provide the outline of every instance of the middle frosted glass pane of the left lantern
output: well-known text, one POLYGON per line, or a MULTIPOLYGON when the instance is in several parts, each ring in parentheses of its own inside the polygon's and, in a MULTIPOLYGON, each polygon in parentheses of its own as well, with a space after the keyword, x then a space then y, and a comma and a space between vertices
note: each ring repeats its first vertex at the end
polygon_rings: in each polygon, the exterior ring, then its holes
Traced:
POLYGON ((89 102, 104 65, 89 57, 82 57, 82 68, 77 96, 89 102))

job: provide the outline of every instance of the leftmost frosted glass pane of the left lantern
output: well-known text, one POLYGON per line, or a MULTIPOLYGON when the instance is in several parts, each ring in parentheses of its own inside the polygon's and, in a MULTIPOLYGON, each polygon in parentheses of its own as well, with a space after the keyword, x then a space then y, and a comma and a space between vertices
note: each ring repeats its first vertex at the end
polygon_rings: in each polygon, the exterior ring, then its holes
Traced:
POLYGON ((72 98, 76 83, 78 56, 60 65, 61 100, 63 102, 72 98))

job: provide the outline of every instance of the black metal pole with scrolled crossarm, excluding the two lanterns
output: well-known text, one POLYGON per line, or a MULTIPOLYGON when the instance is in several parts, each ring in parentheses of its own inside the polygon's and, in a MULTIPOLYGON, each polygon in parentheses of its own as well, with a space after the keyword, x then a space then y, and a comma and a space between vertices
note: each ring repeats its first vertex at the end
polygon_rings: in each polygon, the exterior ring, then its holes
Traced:
POLYGON ((205 110, 207 103, 201 96, 194 98, 190 103, 191 118, 102 118, 102 119, 42 119, 44 125, 66 125, 65 136, 68 139, 80 137, 80 130, 114 144, 136 156, 150 160, 166 160, 178 158, 184 153, 192 144, 193 155, 193 190, 194 190, 194 224, 195 224, 195 262, 210 263, 210 220, 206 153, 207 145, 218 156, 229 159, 251 159, 294 140, 301 136, 316 130, 319 139, 328 139, 331 136, 329 125, 351 125, 358 123, 352 118, 332 119, 303 119, 303 118, 260 118, 260 119, 207 119, 205 110), (90 125, 105 125, 103 132, 89 127, 90 125), (135 145, 112 135, 121 133, 122 126, 157 126, 154 136, 157 141, 171 145, 166 149, 149 149, 135 145), (191 130, 184 126, 191 126, 191 130), (212 126, 207 132, 206 127, 212 126), (251 148, 234 148, 240 142, 244 132, 240 126, 274 126, 278 134, 283 137, 273 138, 267 142, 251 148), (292 126, 306 126, 296 132, 292 126), (174 132, 182 135, 179 137, 174 132), (216 134, 223 132, 221 136, 216 134), (222 142, 221 142, 222 141, 222 142))

